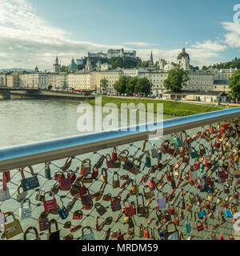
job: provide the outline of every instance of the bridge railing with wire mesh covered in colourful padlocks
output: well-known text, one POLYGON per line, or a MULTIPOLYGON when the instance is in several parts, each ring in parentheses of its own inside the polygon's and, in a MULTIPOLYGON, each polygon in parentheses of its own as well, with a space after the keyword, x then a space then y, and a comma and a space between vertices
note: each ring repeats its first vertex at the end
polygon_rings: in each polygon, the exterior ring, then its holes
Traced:
POLYGON ((239 118, 157 122, 155 140, 139 125, 1 149, 2 239, 49 239, 52 219, 60 239, 238 239, 239 118))

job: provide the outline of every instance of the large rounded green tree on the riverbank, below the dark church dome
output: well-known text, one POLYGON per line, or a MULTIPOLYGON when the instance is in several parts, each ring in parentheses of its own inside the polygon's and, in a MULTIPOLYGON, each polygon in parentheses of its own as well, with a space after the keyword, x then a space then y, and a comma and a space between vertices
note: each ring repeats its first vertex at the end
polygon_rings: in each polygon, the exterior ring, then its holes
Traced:
POLYGON ((167 90, 180 92, 182 86, 186 86, 187 81, 189 81, 187 72, 177 67, 174 68, 174 70, 170 70, 168 77, 163 82, 163 86, 166 87, 167 90))

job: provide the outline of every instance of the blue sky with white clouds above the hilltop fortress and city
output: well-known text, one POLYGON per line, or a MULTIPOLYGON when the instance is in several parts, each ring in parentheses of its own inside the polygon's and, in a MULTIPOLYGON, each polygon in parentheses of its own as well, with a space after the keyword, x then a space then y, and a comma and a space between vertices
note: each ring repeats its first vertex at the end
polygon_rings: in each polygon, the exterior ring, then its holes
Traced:
POLYGON ((240 0, 0 0, 0 70, 120 48, 176 62, 183 47, 193 66, 240 58, 240 0))

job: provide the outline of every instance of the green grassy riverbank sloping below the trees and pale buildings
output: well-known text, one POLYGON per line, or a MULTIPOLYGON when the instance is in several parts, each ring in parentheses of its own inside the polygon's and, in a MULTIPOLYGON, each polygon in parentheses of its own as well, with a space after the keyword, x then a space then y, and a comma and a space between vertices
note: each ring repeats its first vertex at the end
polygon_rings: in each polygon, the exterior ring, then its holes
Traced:
MULTIPOLYGON (((94 105, 95 100, 92 99, 87 101, 88 103, 94 105)), ((194 103, 185 103, 185 102, 168 102, 168 101, 161 101, 155 99, 145 99, 145 98, 114 98, 114 97, 102 97, 102 106, 106 103, 114 103, 121 107, 122 103, 134 103, 136 106, 138 103, 155 103, 154 104, 154 112, 157 112, 157 103, 163 103, 163 114, 170 114, 178 117, 187 116, 191 114, 201 114, 206 112, 212 112, 217 110, 223 110, 226 106, 211 106, 211 105, 201 105, 201 104, 194 104, 194 103)), ((207 103, 206 103, 207 104, 207 103)))

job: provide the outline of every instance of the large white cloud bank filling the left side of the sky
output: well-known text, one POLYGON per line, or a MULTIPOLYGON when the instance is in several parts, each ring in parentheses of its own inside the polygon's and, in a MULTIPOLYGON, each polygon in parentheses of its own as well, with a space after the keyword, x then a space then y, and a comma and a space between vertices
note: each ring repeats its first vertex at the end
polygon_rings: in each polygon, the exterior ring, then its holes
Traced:
POLYGON ((38 17, 26 0, 0 0, 0 69, 15 66, 49 69, 58 54, 62 64, 80 58, 89 51, 106 51, 112 47, 67 38, 66 31, 51 26, 38 17))

